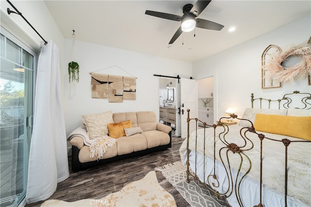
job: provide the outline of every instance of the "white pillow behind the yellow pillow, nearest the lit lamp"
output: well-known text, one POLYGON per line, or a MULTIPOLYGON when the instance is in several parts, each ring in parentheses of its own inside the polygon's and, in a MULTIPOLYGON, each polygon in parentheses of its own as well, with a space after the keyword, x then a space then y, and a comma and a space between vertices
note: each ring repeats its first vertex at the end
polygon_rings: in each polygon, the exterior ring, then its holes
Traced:
MULTIPOLYGON (((286 116, 287 109, 251 109, 251 108, 246 108, 244 113, 243 113, 242 119, 248 119, 251 122, 253 122, 253 124, 254 124, 257 113, 286 116)), ((242 127, 251 127, 252 126, 251 123, 249 123, 248 121, 244 121, 244 120, 241 120, 239 125, 242 127)))

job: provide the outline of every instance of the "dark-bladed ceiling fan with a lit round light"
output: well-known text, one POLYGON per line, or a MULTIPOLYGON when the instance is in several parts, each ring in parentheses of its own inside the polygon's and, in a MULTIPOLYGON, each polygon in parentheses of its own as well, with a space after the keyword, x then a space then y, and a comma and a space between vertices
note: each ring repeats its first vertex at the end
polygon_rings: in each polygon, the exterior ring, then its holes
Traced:
POLYGON ((180 36, 182 32, 190 32, 195 27, 207 29, 207 30, 217 30, 220 31, 224 28, 224 25, 212 22, 206 19, 197 18, 201 12, 207 7, 210 0, 198 0, 194 5, 186 4, 183 7, 183 16, 172 15, 162 12, 155 12, 146 10, 145 14, 150 16, 156 16, 164 19, 169 19, 173 21, 181 21, 181 26, 173 35, 169 44, 173 44, 175 40, 180 36))

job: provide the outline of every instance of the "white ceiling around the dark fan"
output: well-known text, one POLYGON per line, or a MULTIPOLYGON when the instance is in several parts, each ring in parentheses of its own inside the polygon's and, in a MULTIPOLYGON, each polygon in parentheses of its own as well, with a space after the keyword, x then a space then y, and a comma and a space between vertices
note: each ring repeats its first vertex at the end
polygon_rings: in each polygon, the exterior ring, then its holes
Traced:
MULTIPOLYGON (((194 62, 311 14, 310 0, 212 0, 198 16, 225 25, 196 28, 168 43, 180 22, 145 15, 146 10, 183 15, 196 0, 45 0, 65 38, 194 62), (236 31, 228 32, 232 26, 236 31), (182 45, 184 42, 184 45, 182 45)), ((297 31, 298 32, 298 31, 297 31)))

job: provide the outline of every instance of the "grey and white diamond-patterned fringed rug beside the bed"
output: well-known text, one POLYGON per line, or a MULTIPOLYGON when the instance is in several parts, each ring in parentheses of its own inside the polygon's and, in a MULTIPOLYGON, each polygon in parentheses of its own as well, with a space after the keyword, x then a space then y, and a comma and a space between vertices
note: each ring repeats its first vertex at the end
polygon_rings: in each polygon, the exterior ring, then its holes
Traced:
POLYGON ((219 199, 213 191, 198 184, 190 176, 190 182, 187 183, 187 167, 181 161, 167 164, 162 167, 156 167, 162 175, 179 191, 191 207, 230 207, 225 199, 219 199))

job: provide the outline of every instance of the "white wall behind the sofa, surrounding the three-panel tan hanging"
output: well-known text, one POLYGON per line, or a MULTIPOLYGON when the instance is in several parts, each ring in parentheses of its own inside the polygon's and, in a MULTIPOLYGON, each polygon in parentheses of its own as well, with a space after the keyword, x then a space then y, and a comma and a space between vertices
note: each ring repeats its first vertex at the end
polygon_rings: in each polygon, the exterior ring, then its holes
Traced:
MULTIPOLYGON (((72 40, 65 39, 65 60, 71 62, 72 40)), ((123 111, 155 111, 159 116, 159 77, 156 75, 190 78, 192 64, 175 61, 118 48, 110 48, 86 42, 75 42, 77 58, 80 65, 80 81, 69 84, 65 75, 65 123, 67 135, 82 124, 81 114, 98 113, 112 110, 123 111), (112 67, 117 65, 123 70, 112 67), (122 103, 109 103, 108 99, 91 98, 90 72, 120 76, 137 77, 136 100, 123 100, 122 103)))

